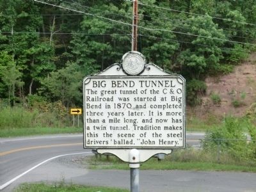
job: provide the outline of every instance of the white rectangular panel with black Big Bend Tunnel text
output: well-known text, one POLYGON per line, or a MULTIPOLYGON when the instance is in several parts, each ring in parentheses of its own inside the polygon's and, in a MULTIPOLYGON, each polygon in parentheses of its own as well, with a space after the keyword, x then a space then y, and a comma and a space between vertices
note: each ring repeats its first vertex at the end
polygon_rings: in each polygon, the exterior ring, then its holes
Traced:
POLYGON ((84 79, 84 148, 185 148, 182 76, 84 79))

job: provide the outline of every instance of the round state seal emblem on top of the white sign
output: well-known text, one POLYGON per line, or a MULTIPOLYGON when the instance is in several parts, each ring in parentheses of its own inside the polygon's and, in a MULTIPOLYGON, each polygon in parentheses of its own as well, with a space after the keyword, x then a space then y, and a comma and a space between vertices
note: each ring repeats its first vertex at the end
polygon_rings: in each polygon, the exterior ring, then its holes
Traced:
POLYGON ((126 74, 136 76, 145 69, 146 60, 143 54, 138 51, 131 51, 122 57, 122 67, 126 74))

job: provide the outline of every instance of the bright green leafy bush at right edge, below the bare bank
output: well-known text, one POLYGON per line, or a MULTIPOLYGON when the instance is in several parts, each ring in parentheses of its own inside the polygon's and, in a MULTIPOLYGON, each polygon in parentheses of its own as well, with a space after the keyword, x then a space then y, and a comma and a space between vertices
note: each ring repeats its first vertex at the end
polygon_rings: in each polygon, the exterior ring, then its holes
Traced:
MULTIPOLYGON (((236 158, 237 161, 243 159, 255 161, 254 142, 248 143, 244 134, 244 131, 249 131, 251 134, 255 127, 248 120, 239 120, 231 116, 225 118, 224 121, 220 127, 214 127, 214 129, 207 132, 203 143, 204 150, 218 152, 218 154, 228 154, 236 158), (246 127, 246 130, 244 130, 244 127, 246 127)), ((252 134, 252 136, 254 135, 252 134)))

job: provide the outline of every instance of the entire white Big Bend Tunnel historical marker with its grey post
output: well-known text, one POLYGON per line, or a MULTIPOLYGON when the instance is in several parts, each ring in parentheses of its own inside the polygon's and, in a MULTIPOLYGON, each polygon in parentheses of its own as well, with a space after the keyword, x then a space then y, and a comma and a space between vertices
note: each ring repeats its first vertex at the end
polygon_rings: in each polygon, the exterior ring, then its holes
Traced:
POLYGON ((146 64, 137 51, 83 81, 84 148, 129 163, 131 191, 140 163, 185 148, 185 79, 146 64))

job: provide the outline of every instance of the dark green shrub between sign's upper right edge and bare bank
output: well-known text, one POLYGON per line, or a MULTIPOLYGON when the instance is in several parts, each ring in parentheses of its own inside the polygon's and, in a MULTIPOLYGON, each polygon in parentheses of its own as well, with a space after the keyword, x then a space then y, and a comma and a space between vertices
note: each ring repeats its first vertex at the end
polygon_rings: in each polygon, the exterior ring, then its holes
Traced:
POLYGON ((204 81, 199 81, 197 79, 192 79, 187 83, 187 102, 193 106, 200 105, 202 100, 200 97, 204 95, 206 91, 206 84, 204 81))

